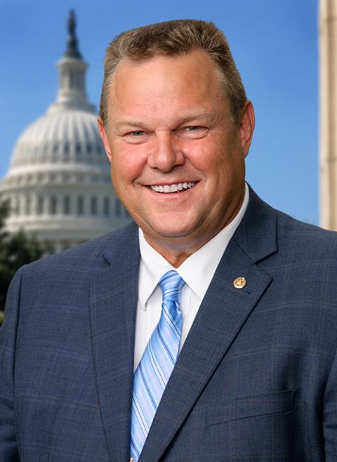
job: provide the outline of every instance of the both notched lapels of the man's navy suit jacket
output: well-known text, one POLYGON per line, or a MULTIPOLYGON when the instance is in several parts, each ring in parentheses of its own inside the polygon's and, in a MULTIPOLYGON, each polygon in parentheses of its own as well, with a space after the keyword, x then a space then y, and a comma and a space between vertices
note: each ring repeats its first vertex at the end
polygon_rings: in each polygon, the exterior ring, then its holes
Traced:
MULTIPOLYGON (((147 436, 140 462, 157 462, 272 278, 257 263, 277 251, 277 213, 250 190, 249 206, 220 260, 147 436), (245 277, 242 290, 233 286, 245 277)), ((138 299, 138 227, 113 233, 107 268, 91 279, 96 386, 110 460, 128 461, 138 299)))

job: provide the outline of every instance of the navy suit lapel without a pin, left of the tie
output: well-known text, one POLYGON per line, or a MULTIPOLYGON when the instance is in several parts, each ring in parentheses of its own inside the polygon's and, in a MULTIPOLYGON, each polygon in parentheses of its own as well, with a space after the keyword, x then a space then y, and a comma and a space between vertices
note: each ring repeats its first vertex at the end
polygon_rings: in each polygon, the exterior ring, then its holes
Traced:
POLYGON ((91 279, 95 380, 111 461, 128 461, 130 445, 139 270, 137 228, 130 228, 131 232, 115 237, 106 247, 109 266, 91 279))

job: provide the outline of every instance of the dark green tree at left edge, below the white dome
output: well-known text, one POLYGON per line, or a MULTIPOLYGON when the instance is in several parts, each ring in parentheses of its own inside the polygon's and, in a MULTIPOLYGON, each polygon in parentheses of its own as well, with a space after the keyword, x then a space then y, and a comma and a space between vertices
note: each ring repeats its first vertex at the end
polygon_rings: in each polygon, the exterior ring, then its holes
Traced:
POLYGON ((39 260, 44 249, 36 239, 27 237, 23 230, 11 235, 5 230, 10 212, 8 202, 0 203, 0 325, 4 319, 4 308, 8 286, 15 272, 27 263, 39 260))

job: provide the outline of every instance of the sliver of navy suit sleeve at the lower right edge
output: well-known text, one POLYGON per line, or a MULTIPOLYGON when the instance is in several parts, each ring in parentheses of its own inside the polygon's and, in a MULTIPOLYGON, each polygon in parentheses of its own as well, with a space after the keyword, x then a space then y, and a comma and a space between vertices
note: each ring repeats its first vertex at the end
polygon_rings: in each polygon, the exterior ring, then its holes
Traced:
POLYGON ((324 393, 323 433, 325 461, 336 462, 337 456, 337 352, 324 393))

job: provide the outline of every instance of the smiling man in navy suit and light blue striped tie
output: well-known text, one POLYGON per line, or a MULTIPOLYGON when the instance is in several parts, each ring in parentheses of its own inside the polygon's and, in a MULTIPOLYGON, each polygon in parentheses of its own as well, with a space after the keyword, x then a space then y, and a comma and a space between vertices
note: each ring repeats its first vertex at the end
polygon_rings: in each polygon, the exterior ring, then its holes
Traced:
POLYGON ((114 39, 99 125, 136 224, 14 278, 0 460, 336 461, 336 236, 245 185, 253 107, 223 34, 114 39))

